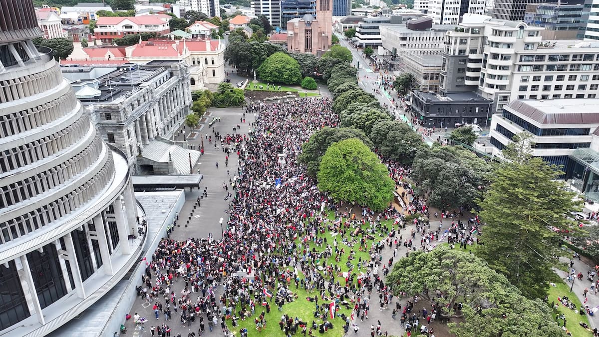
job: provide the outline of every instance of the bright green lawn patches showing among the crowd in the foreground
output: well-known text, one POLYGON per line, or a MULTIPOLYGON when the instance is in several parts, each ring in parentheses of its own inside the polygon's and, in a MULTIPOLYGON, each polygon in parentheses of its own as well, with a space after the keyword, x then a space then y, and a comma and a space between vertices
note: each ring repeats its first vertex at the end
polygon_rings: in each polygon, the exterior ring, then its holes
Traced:
MULTIPOLYGON (((335 220, 334 213, 329 212, 328 218, 330 221, 334 222, 334 220, 335 220)), ((383 221, 382 224, 384 226, 390 228, 392 225, 392 220, 383 221)), ((362 225, 362 228, 367 232, 368 231, 373 232, 374 239, 367 240, 368 248, 371 247, 373 242, 377 242, 378 240, 380 240, 382 238, 382 236, 379 235, 380 233, 374 233, 374 231, 370 229, 370 225, 368 223, 362 225)), ((349 235, 349 233, 352 233, 353 230, 355 230, 355 228, 349 229, 348 234, 347 234, 348 240, 353 238, 352 236, 349 235)), ((321 247, 317 247, 314 242, 308 241, 308 248, 310 250, 314 248, 314 249, 316 249, 317 252, 322 252, 325 250, 326 244, 329 244, 332 246, 333 240, 335 239, 335 237, 337 237, 338 248, 339 249, 343 248, 343 250, 344 250, 344 253, 340 255, 340 261, 338 264, 341 267, 342 272, 347 272, 347 270, 348 270, 348 267, 346 266, 347 257, 349 257, 350 250, 352 248, 344 245, 344 243, 341 242, 343 237, 340 237, 338 234, 335 235, 334 233, 331 233, 330 231, 325 231, 324 234, 319 234, 318 237, 326 238, 326 243, 321 247)), ((357 238, 357 236, 356 236, 356 238, 357 238)), ((305 248, 304 244, 300 240, 301 240, 301 237, 298 237, 298 239, 297 239, 298 253, 301 253, 302 250, 305 248)), ((359 258, 362 258, 362 261, 370 261, 370 255, 368 254, 367 249, 365 247, 361 250, 359 248, 359 243, 358 243, 353 246, 353 249, 355 250, 355 254, 354 254, 353 260, 350 260, 350 262, 352 262, 352 264, 354 264, 354 266, 356 266, 358 264, 359 258)), ((334 258, 335 258, 335 255, 333 255, 331 257, 331 260, 325 261, 325 263, 327 265, 330 265, 331 263, 335 264, 334 258)), ((321 265, 322 265, 322 262, 323 261, 318 261, 318 263, 321 265)), ((383 261, 383 263, 385 263, 385 262, 383 261)), ((356 269, 354 269, 353 272, 355 272, 357 275, 359 275, 359 272, 365 272, 365 267, 362 267, 361 269, 357 269, 357 267, 356 267, 356 269)), ((304 275, 299 275, 299 277, 304 278, 304 275)), ((326 279, 328 279, 328 278, 326 278, 326 279)), ((345 284, 345 279, 343 278, 343 275, 335 275, 335 281, 339 281, 341 285, 345 284)), ((309 302, 306 299, 308 296, 309 297, 319 296, 319 292, 314 290, 314 291, 311 291, 311 293, 308 293, 307 291, 304 290, 304 288, 301 288, 301 287, 296 288, 293 280, 291 282, 291 285, 289 285, 289 288, 292 291, 294 291, 294 293, 297 294, 297 300, 295 300, 294 302, 291 302, 291 303, 286 303, 285 305, 283 305, 283 310, 279 311, 277 309, 277 305, 274 303, 274 299, 273 299, 272 303, 270 304, 270 307, 271 307, 270 312, 265 314, 265 318, 267 320, 267 326, 265 329, 262 330, 262 332, 258 332, 258 330, 256 330, 256 326, 254 324, 254 318, 258 317, 262 311, 265 311, 264 306, 259 306, 259 305, 256 305, 256 311, 255 311, 255 314, 252 315, 252 317, 247 318, 246 321, 238 320, 237 327, 232 327, 231 320, 227 320, 228 329, 231 330, 231 332, 233 332, 236 336, 240 335, 239 330, 241 329, 241 327, 246 327, 248 336, 283 335, 283 332, 280 330, 279 321, 281 320, 282 315, 285 315, 285 314, 288 314, 290 317, 298 317, 300 320, 307 322, 308 329, 311 326, 312 321, 316 321, 317 324, 322 323, 322 320, 320 320, 319 318, 314 318, 315 303, 309 302)), ((323 305, 323 304, 326 305, 328 302, 320 299, 318 303, 319 303, 319 305, 323 305)), ((374 303, 374 305, 377 305, 377 303, 374 303)), ((239 308, 237 308, 237 310, 238 309, 239 308)), ((373 308, 371 307, 371 309, 373 309, 373 308)), ((352 308, 345 309, 345 308, 343 308, 343 306, 340 306, 337 311, 337 314, 343 313, 343 314, 349 316, 351 314, 351 312, 352 312, 352 308)), ((330 337, 343 336, 344 335, 343 326, 345 324, 343 319, 336 316, 334 318, 334 320, 329 320, 329 321, 331 321, 333 323, 334 329, 328 330, 327 332, 325 332, 323 334, 320 334, 318 332, 318 330, 316 330, 316 331, 313 330, 312 334, 314 336, 316 336, 316 335, 330 336, 330 337)), ((296 335, 300 335, 300 334, 301 334, 301 328, 296 333, 296 335)), ((308 336, 308 335, 306 335, 306 336, 308 336)))

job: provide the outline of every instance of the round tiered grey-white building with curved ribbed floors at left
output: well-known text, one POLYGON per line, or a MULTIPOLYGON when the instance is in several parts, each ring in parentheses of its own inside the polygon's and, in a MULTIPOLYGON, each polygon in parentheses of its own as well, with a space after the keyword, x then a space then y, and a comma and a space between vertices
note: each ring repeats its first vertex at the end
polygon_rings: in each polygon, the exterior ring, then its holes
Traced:
POLYGON ((0 0, 0 333, 44 336, 138 263, 129 165, 102 142, 31 0, 0 0))

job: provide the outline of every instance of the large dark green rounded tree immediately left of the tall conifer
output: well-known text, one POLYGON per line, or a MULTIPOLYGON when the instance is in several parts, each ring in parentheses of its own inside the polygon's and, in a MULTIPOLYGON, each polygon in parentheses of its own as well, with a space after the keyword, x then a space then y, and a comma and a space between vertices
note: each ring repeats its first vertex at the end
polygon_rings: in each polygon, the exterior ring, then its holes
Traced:
POLYGON ((421 147, 412 164, 417 190, 435 207, 474 206, 489 184, 491 166, 462 146, 421 147))

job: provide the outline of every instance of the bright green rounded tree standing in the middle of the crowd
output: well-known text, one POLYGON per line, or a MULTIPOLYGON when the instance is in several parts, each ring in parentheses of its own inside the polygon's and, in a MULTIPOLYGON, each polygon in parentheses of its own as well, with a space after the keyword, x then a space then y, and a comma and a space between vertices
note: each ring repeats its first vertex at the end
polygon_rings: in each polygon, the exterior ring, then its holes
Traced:
POLYGON ((357 138, 329 146, 317 173, 318 188, 335 201, 383 210, 394 198, 395 182, 385 164, 357 138))

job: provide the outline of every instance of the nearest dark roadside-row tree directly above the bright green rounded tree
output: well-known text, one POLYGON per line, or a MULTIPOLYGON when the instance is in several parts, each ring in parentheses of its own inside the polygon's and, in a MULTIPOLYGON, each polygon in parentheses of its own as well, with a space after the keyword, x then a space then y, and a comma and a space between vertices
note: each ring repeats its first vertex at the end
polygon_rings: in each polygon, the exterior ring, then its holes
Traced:
POLYGON ((367 135, 371 133, 376 122, 391 120, 391 116, 380 109, 380 104, 376 101, 370 104, 352 103, 341 112, 339 118, 341 127, 353 127, 367 135))

